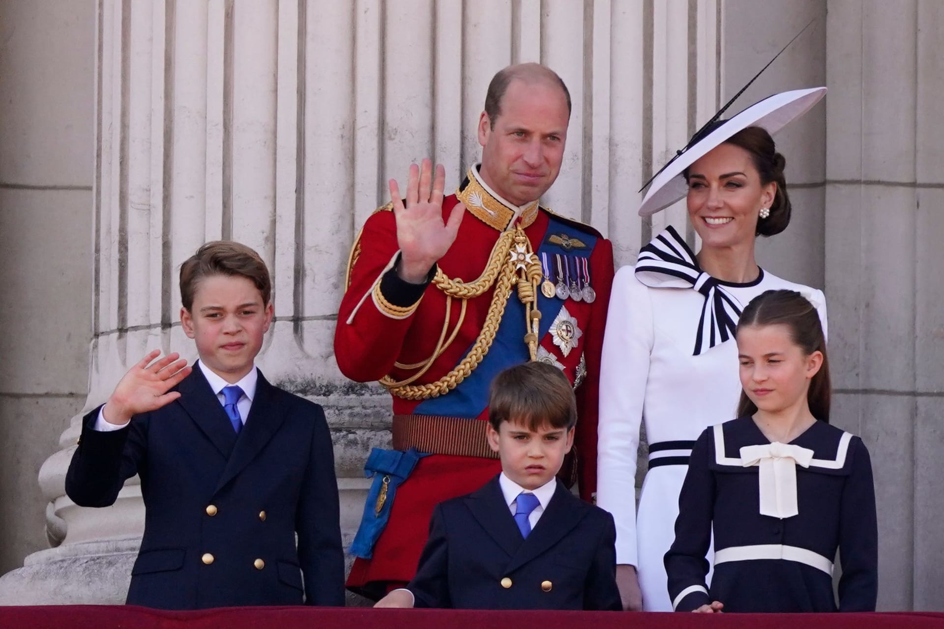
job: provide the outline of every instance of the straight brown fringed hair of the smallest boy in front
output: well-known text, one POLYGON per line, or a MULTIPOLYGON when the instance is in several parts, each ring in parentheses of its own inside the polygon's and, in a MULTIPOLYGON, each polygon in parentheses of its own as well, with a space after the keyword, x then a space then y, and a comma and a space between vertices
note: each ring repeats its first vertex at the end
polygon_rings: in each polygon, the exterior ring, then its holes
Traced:
POLYGON ((544 425, 570 430, 577 424, 577 399, 564 372, 546 362, 526 362, 498 373, 488 393, 488 422, 518 422, 536 431, 544 425))

